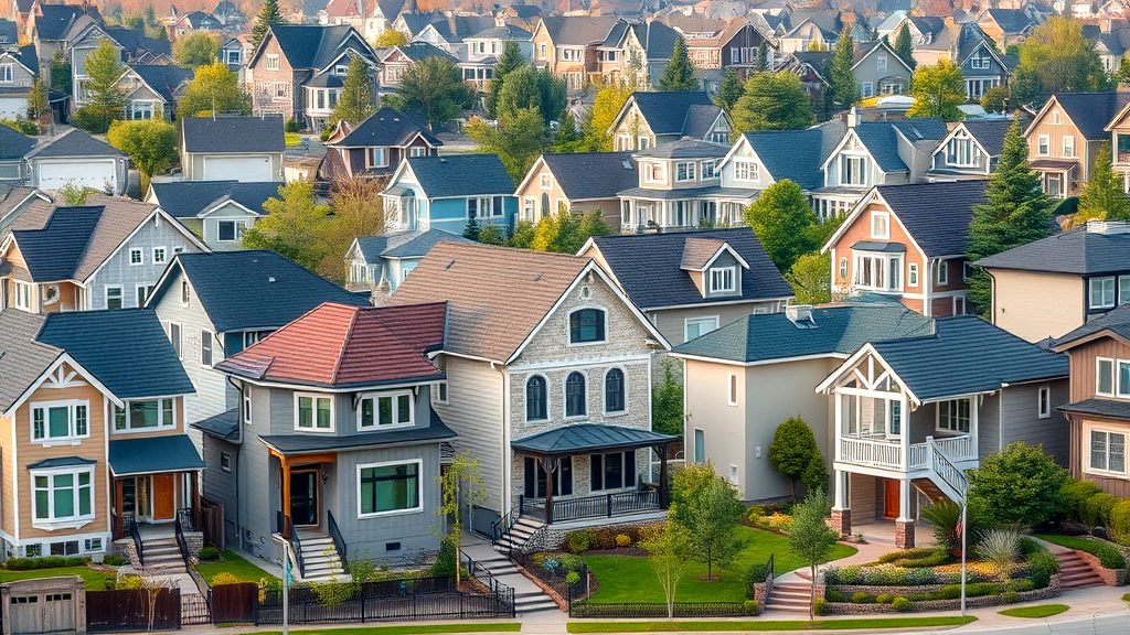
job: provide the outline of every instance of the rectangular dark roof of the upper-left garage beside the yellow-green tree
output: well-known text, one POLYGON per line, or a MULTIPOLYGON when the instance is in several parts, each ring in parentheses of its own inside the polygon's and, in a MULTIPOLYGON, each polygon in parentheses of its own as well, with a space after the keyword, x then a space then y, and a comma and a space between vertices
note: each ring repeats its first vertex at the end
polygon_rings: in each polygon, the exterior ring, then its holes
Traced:
POLYGON ((181 120, 188 153, 281 153, 280 116, 190 116, 181 120))

